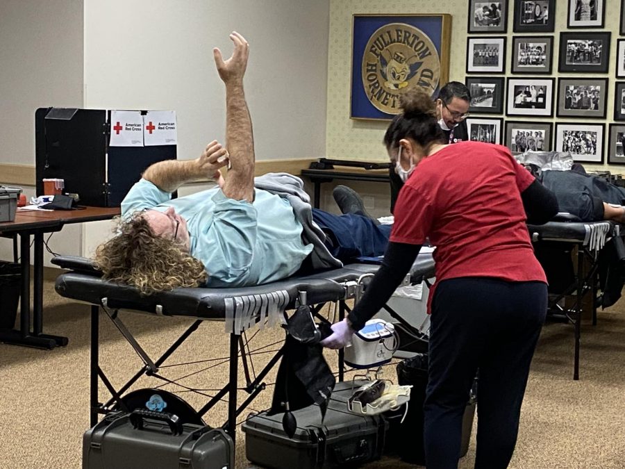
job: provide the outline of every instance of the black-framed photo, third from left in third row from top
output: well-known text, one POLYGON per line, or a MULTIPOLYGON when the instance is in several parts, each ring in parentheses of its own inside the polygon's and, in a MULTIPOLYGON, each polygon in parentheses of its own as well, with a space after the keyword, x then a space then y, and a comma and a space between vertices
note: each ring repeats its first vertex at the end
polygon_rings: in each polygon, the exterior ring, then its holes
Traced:
POLYGON ((606 118, 608 79, 558 79, 558 117, 606 118))

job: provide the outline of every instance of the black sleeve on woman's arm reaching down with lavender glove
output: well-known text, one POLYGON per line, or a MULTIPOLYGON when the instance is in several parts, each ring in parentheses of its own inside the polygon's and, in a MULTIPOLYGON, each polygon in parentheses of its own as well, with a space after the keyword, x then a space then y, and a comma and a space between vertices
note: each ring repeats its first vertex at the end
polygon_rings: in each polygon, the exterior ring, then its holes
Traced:
POLYGON ((348 315, 349 322, 355 331, 363 329, 365 322, 373 318, 386 304, 406 274, 410 272, 419 249, 421 245, 409 245, 403 242, 388 243, 382 265, 367 286, 365 295, 348 315))

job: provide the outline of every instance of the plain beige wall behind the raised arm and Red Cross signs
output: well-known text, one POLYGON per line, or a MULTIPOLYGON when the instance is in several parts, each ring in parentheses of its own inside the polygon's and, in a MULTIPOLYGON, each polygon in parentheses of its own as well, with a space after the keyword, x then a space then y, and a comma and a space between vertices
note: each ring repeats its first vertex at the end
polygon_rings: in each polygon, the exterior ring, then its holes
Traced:
MULTIPOLYGON (((212 49, 229 56, 233 30, 251 44, 246 90, 258 159, 277 160, 276 170, 281 159, 324 156, 328 14, 329 0, 0 0, 0 183, 34 180, 41 106, 174 109, 182 159, 224 140, 212 49)), ((109 233, 66 227, 51 249, 88 255, 109 233)), ((0 258, 11 255, 0 239, 0 258)))

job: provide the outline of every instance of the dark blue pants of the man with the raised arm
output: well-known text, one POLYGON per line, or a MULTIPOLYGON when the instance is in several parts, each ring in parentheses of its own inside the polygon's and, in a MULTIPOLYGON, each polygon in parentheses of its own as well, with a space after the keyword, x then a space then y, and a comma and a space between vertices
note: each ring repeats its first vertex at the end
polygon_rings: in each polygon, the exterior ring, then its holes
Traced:
POLYGON ((382 256, 392 229, 392 225, 376 225, 362 215, 334 215, 317 208, 313 208, 313 220, 328 236, 326 247, 341 261, 382 256))

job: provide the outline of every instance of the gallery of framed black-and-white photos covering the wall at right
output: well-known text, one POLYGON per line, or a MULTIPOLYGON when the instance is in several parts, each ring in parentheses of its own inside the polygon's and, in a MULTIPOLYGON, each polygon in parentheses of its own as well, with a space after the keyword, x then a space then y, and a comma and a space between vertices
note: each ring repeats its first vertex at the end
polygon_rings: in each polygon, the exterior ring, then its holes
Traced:
POLYGON ((469 0, 466 42, 469 138, 624 170, 625 0, 469 0))

